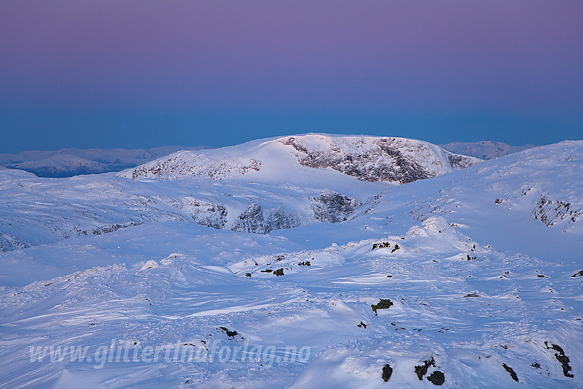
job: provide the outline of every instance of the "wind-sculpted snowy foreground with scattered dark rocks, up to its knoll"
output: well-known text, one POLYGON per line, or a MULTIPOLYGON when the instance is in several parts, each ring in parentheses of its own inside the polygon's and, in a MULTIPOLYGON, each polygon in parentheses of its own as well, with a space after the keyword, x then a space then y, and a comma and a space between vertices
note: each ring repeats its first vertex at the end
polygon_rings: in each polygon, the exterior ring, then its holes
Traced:
POLYGON ((1 255, 3 384, 582 387, 580 262, 504 253, 444 217, 371 222, 321 248, 301 248, 313 226, 165 223, 1 255))

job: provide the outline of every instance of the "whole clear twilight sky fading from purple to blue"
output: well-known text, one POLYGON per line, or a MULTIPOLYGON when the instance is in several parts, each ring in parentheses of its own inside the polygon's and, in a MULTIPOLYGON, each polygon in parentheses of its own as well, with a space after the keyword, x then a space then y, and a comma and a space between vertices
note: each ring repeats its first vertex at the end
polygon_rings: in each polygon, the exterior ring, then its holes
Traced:
POLYGON ((583 139, 580 0, 2 0, 0 152, 583 139))

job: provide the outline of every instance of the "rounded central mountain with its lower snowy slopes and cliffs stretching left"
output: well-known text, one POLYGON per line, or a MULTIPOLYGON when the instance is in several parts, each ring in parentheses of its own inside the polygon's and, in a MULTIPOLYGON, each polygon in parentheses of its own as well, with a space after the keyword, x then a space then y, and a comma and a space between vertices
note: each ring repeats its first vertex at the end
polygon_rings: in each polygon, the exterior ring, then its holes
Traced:
POLYGON ((177 152, 118 176, 3 180, 0 250, 165 220, 250 233, 341 222, 399 182, 477 161, 422 141, 309 134, 177 152))

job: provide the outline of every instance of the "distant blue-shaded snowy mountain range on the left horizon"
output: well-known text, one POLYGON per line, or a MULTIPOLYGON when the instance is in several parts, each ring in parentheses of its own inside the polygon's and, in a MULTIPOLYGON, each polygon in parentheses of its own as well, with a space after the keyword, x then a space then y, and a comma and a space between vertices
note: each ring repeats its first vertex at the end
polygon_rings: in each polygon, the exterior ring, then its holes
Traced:
POLYGON ((71 177, 79 174, 119 172, 178 150, 202 150, 204 146, 167 146, 150 150, 75 148, 0 154, 0 166, 22 169, 39 177, 71 177))

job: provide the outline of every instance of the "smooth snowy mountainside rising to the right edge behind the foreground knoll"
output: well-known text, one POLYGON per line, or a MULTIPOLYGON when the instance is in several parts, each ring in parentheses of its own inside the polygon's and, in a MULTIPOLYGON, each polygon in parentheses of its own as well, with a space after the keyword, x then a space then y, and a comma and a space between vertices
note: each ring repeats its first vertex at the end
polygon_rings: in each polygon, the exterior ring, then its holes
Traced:
POLYGON ((583 249, 583 141, 563 141, 385 191, 363 207, 401 220, 431 215, 507 250, 551 259, 583 249), (508 229, 508 231, 507 231, 508 229), (503 231, 507 231, 503 233, 503 231))

